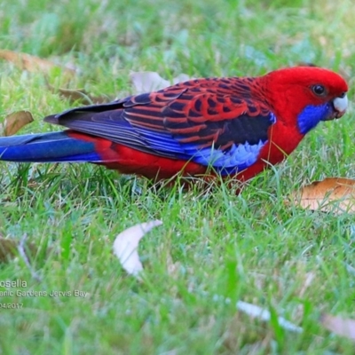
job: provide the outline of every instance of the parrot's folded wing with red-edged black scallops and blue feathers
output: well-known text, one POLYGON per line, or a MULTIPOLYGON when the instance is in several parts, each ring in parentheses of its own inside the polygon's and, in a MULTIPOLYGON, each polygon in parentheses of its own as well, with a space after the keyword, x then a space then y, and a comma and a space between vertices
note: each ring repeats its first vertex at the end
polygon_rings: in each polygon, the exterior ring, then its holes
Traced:
POLYGON ((241 170, 256 161, 276 118, 261 101, 180 85, 45 121, 150 154, 241 170))

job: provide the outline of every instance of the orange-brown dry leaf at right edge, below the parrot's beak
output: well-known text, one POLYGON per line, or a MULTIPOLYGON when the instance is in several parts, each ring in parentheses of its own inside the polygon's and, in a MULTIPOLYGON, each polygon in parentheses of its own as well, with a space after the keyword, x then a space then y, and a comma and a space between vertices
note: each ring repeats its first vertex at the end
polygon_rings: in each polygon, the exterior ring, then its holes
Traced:
POLYGON ((341 214, 355 212, 355 180, 343 177, 327 177, 314 181, 291 196, 296 205, 304 209, 321 210, 341 214))

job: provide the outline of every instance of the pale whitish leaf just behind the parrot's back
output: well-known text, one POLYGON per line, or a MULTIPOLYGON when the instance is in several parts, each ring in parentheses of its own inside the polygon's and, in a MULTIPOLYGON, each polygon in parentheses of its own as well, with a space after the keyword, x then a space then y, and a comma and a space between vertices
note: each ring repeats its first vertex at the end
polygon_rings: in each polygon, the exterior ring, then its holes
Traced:
POLYGON ((161 90, 171 84, 183 83, 190 79, 193 78, 186 74, 180 74, 170 82, 169 80, 163 79, 161 75, 155 72, 130 73, 130 81, 138 93, 161 90))

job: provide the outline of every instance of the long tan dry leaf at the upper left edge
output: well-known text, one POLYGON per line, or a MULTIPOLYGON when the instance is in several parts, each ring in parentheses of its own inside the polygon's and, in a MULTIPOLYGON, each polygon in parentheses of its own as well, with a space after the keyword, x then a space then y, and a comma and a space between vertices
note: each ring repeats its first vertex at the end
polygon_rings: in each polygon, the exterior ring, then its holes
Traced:
POLYGON ((12 62, 15 66, 29 72, 49 73, 53 68, 62 70, 66 75, 75 75, 75 69, 69 67, 60 67, 51 62, 51 60, 42 59, 27 53, 17 51, 0 50, 0 59, 12 62))

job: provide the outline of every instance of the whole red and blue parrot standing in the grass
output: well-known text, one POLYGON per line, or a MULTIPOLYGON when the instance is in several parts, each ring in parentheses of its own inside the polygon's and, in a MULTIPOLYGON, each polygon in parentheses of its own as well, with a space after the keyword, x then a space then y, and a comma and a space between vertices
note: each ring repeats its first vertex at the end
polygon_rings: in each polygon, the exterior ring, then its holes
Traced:
POLYGON ((320 121, 340 118, 347 91, 320 67, 190 80, 49 115, 45 122, 68 130, 0 138, 0 160, 92 162, 154 179, 212 168, 245 181, 281 162, 320 121))

